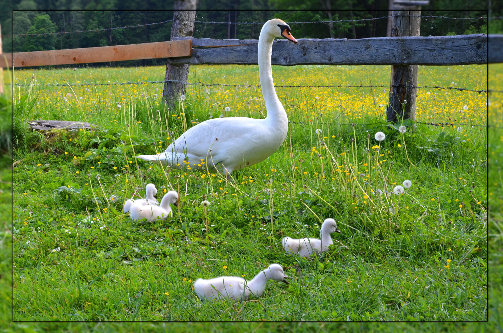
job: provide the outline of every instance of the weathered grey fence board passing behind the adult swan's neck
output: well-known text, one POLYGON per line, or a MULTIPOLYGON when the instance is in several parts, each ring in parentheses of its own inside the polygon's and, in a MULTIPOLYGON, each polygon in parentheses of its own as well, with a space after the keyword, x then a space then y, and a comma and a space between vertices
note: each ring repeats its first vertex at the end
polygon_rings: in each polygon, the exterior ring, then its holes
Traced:
MULTIPOLYGON (((187 37, 177 38, 177 40, 187 37)), ((171 59, 191 64, 257 64, 257 40, 191 38, 192 56, 171 59)), ((275 65, 459 65, 487 63, 487 35, 275 40, 275 65)))

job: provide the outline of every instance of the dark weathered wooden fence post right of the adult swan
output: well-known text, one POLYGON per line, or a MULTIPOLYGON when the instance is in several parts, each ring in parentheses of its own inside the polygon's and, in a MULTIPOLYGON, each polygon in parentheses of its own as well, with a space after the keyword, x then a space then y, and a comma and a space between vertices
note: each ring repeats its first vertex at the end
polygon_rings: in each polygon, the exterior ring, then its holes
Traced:
MULTIPOLYGON (((391 37, 421 36, 421 6, 428 1, 394 0, 391 37)), ((412 52, 411 50, 408 50, 412 52)), ((398 55, 399 56, 399 55, 398 55)), ((392 65, 387 120, 415 119, 418 65, 392 65), (407 101, 404 105, 404 101, 407 101)))

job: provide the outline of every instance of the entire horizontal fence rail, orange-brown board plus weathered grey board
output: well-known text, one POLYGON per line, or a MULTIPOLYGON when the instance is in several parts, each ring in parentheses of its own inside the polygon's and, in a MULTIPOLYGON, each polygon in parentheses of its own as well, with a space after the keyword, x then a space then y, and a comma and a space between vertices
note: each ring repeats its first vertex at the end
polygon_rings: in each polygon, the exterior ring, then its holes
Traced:
MULTIPOLYGON (((276 40, 275 65, 460 65, 503 62, 503 35, 276 40), (489 40, 489 42, 488 42, 489 40)), ((258 40, 179 37, 171 42, 14 53, 14 67, 171 58, 173 63, 257 64, 258 40), (192 44, 190 44, 192 43, 192 44), (170 45, 171 44, 171 45, 170 45)), ((6 67, 12 54, 0 57, 6 67)), ((11 67, 11 66, 9 66, 11 67)))

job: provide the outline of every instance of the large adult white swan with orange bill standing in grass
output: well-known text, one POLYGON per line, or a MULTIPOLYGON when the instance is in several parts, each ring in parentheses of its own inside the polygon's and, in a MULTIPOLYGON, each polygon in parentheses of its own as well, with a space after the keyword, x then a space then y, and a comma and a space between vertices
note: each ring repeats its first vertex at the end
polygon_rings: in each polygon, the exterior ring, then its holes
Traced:
POLYGON ((288 131, 288 118, 276 95, 271 69, 275 37, 285 37, 297 44, 290 27, 282 20, 269 20, 262 27, 259 37, 259 75, 262 96, 266 102, 266 119, 209 119, 187 130, 164 152, 137 157, 160 161, 177 169, 184 169, 189 164, 194 170, 206 170, 206 167, 217 169, 229 179, 232 171, 259 163, 272 155, 281 146, 288 131))

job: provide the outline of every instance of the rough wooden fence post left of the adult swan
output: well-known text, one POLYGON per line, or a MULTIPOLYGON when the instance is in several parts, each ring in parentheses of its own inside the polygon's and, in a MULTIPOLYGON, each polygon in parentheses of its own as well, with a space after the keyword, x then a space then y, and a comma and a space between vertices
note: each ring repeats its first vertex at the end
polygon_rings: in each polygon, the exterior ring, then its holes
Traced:
MULTIPOLYGON (((173 25, 171 26, 171 40, 174 37, 192 37, 194 21, 196 20, 197 0, 176 0, 173 13, 173 25)), ((175 64, 170 58, 166 63, 166 75, 164 80, 178 80, 187 82, 189 78, 189 64, 175 64)), ((181 82, 164 82, 162 98, 172 107, 180 95, 185 94, 186 85, 181 82)))

